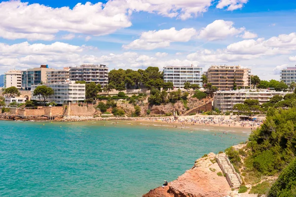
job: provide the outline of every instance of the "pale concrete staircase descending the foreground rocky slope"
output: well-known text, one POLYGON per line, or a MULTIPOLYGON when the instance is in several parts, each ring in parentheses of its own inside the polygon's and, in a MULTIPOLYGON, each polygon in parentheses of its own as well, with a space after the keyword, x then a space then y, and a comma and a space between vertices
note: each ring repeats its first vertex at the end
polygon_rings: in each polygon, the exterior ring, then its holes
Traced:
POLYGON ((216 156, 217 163, 219 164, 222 172, 226 174, 227 182, 231 188, 239 188, 242 184, 240 175, 235 171, 233 165, 230 163, 225 153, 216 156))

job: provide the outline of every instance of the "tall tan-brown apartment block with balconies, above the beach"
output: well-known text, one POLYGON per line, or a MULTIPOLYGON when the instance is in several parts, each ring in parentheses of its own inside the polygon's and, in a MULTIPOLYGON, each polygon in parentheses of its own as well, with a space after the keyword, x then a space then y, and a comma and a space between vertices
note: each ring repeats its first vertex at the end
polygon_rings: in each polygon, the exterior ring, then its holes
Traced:
POLYGON ((218 90, 233 90, 233 85, 242 89, 251 86, 251 69, 241 66, 211 66, 208 82, 218 90))

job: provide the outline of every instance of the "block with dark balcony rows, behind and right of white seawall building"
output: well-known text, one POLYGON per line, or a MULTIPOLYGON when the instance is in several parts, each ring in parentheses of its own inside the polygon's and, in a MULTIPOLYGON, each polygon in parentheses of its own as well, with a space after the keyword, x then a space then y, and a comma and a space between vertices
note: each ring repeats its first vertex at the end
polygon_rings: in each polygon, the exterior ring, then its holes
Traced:
POLYGON ((70 67, 71 81, 95 82, 104 88, 108 84, 108 67, 106 65, 81 65, 70 67))

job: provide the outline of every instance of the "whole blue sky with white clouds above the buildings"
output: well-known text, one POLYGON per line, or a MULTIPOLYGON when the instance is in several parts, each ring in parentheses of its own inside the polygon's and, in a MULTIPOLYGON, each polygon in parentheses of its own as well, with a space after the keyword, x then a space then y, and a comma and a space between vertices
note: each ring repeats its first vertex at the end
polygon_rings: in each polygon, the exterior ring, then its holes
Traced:
POLYGON ((293 0, 12 0, 0 18, 0 73, 226 64, 279 80, 296 65, 293 0))

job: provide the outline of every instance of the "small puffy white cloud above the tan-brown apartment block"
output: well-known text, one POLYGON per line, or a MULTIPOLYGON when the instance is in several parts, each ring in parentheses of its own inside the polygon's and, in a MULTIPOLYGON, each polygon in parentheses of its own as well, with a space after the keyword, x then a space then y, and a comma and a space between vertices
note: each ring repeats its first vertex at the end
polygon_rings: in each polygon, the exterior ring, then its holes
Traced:
POLYGON ((207 27, 203 28, 199 32, 198 38, 213 41, 237 35, 245 31, 245 28, 237 29, 233 27, 233 24, 234 23, 232 21, 216 20, 207 25, 207 27))

